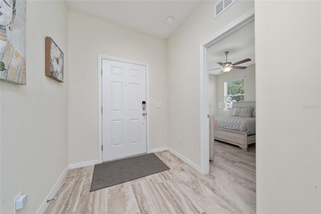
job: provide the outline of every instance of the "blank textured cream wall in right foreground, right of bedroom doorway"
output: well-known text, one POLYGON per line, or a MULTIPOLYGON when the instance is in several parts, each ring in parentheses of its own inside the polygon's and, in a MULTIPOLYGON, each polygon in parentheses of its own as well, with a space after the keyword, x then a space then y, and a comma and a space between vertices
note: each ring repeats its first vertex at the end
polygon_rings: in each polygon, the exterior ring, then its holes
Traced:
POLYGON ((321 212, 320 1, 256 1, 258 213, 321 212))

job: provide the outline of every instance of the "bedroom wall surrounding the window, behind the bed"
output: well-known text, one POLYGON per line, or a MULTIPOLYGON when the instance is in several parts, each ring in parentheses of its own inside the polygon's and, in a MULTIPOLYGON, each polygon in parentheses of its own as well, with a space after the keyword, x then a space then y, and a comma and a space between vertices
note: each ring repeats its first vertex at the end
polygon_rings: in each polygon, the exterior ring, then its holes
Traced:
MULTIPOLYGON (((217 76, 217 107, 219 102, 224 102, 224 82, 244 78, 244 101, 255 101, 255 64, 246 69, 232 69, 230 72, 217 76)), ((217 108, 216 116, 222 115, 222 110, 217 108)), ((228 115, 228 112, 224 112, 228 115)))

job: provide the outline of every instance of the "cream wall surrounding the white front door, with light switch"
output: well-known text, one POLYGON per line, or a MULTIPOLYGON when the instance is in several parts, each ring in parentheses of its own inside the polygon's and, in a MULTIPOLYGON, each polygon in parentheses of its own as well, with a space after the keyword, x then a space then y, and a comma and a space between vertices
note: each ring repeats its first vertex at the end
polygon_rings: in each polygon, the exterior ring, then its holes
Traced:
POLYGON ((150 149, 167 146, 167 41, 71 11, 68 38, 69 163, 98 159, 98 54, 149 64, 150 149))

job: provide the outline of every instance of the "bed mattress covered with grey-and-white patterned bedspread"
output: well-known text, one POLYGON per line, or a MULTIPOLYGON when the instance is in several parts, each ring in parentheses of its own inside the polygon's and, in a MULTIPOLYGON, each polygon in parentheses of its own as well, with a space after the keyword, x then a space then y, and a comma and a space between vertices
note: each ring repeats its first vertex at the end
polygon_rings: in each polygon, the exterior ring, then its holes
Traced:
POLYGON ((255 118, 235 116, 215 117, 214 127, 247 132, 247 135, 255 135, 255 118))

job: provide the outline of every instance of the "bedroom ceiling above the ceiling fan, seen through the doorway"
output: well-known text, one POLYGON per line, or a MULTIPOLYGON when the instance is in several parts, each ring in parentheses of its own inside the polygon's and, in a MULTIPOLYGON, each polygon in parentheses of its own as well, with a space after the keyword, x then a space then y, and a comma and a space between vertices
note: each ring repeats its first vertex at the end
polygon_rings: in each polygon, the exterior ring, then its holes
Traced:
MULTIPOLYGON (((250 58, 251 61, 239 64, 238 66, 249 66, 254 64, 254 47, 254 22, 251 22, 238 32, 209 48, 209 70, 220 68, 221 66, 217 64, 217 62, 226 62, 225 51, 229 51, 229 54, 227 55, 228 62, 234 63, 250 58)), ((232 69, 232 71, 233 70, 236 69, 232 69)), ((220 72, 221 69, 209 71, 210 74, 216 75, 220 72)))

